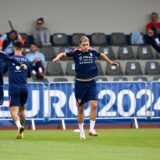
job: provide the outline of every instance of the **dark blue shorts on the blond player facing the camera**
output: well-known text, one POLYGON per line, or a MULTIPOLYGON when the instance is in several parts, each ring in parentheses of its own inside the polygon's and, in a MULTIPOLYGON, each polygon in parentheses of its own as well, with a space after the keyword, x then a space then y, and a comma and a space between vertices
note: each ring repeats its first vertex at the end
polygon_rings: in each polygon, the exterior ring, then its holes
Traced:
POLYGON ((82 105, 91 100, 97 100, 96 81, 81 82, 76 80, 75 97, 78 105, 82 105))

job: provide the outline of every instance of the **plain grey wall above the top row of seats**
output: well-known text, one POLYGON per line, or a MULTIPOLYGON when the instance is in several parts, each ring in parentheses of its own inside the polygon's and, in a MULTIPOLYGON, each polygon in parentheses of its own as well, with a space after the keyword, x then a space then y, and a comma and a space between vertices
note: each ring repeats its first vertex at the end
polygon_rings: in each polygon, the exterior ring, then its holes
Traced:
POLYGON ((35 19, 44 17, 51 33, 144 31, 159 0, 0 0, 0 33, 10 30, 31 34, 35 19))

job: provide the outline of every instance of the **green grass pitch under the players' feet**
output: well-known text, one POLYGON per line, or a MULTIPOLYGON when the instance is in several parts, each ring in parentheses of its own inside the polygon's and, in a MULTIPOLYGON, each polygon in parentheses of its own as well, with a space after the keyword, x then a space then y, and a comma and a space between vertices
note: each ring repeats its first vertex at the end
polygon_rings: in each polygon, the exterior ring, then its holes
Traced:
MULTIPOLYGON (((0 160, 160 160, 160 129, 97 130, 79 139, 72 130, 0 131, 0 160)), ((87 131, 86 131, 87 133, 87 131)))

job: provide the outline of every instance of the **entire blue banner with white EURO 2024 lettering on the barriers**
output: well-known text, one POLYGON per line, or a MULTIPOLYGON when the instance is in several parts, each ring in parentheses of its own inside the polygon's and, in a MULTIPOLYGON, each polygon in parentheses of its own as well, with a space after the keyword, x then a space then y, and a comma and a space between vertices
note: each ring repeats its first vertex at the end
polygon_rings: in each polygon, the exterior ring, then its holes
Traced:
MULTIPOLYGON (((75 119, 77 106, 73 83, 31 83, 26 105, 27 118, 75 119)), ((4 85, 5 100, 0 106, 0 119, 10 119, 8 85, 4 85)), ((98 118, 160 117, 160 83, 105 82, 97 83, 98 118)), ((85 118, 90 107, 85 105, 85 118)))

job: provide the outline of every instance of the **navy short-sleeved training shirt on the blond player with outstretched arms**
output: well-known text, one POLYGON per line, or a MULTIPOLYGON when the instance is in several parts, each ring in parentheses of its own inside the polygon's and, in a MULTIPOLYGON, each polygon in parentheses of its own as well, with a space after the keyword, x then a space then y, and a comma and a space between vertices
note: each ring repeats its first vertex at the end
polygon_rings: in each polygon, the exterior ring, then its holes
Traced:
POLYGON ((101 54, 95 49, 90 48, 87 52, 82 52, 80 48, 66 52, 67 57, 73 57, 75 62, 76 78, 87 79, 98 75, 96 57, 101 54))

